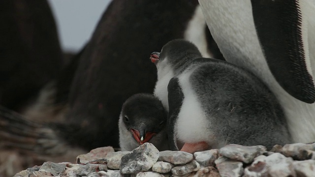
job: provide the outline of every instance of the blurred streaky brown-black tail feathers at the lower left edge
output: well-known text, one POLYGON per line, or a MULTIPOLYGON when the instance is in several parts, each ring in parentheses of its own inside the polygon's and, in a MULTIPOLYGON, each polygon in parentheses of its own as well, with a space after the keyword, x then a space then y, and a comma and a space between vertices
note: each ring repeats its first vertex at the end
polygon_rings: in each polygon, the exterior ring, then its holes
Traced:
POLYGON ((0 148, 14 148, 37 154, 63 154, 64 143, 47 124, 32 122, 0 106, 0 148))

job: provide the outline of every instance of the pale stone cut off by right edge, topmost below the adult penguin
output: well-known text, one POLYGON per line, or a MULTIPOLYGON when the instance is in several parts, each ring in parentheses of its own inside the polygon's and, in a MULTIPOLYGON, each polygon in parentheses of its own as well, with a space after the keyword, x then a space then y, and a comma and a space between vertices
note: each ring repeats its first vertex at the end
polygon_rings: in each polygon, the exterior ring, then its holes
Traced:
POLYGON ((284 145, 281 153, 287 157, 292 157, 294 160, 315 159, 315 143, 295 143, 284 145))

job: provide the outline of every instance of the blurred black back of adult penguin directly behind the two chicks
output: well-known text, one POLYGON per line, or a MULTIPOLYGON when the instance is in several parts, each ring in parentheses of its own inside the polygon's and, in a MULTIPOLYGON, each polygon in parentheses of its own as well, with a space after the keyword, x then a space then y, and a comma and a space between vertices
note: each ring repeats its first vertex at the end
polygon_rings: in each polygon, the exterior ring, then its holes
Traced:
MULTIPOLYGON (((156 69, 147 61, 148 54, 171 39, 187 36, 197 5, 191 0, 111 2, 72 82, 67 117, 81 131, 69 141, 88 149, 118 147, 122 104, 135 93, 153 92, 155 86, 156 69)), ((203 33, 205 28, 204 22, 203 33)))

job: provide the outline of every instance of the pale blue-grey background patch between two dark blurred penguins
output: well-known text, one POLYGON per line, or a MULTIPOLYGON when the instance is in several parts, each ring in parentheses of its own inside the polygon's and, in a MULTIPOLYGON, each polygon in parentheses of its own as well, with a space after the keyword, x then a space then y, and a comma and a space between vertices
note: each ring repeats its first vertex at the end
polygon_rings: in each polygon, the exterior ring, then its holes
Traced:
POLYGON ((78 52, 92 33, 111 0, 48 0, 64 51, 78 52))

